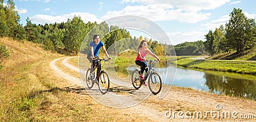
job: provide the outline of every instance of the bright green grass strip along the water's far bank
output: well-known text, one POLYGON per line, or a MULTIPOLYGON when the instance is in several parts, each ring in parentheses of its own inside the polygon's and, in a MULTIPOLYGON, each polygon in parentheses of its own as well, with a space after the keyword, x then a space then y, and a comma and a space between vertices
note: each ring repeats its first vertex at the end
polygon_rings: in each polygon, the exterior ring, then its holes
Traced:
POLYGON ((256 62, 252 61, 195 60, 184 58, 173 61, 173 63, 186 68, 256 74, 256 62))

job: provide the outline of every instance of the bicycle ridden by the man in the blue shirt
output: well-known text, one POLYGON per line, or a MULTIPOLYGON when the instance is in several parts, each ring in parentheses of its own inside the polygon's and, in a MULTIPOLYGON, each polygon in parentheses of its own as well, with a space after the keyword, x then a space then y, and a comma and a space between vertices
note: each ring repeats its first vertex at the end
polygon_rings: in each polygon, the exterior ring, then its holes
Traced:
POLYGON ((86 84, 89 89, 91 89, 94 85, 94 83, 98 84, 99 90, 102 94, 106 94, 109 91, 109 76, 108 73, 105 72, 103 69, 103 66, 101 65, 101 61, 109 61, 109 59, 100 59, 99 57, 95 57, 93 59, 95 61, 95 66, 93 69, 88 68, 86 72, 86 84), (100 72, 97 73, 97 76, 95 77, 95 68, 99 68, 100 72))

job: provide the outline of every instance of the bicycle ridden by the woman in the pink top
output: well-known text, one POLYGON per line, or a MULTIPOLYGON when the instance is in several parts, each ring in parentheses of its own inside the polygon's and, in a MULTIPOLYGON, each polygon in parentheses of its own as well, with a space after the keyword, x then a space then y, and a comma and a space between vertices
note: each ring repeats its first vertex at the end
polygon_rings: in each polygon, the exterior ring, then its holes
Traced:
POLYGON ((148 72, 145 73, 145 79, 140 79, 140 73, 138 69, 135 69, 132 72, 132 86, 135 89, 140 89, 140 87, 146 82, 146 80, 148 79, 148 88, 150 89, 150 91, 156 95, 158 94, 162 87, 162 80, 161 77, 158 73, 155 72, 155 70, 152 68, 152 62, 159 62, 157 60, 147 60, 147 62, 149 62, 148 65, 148 72))

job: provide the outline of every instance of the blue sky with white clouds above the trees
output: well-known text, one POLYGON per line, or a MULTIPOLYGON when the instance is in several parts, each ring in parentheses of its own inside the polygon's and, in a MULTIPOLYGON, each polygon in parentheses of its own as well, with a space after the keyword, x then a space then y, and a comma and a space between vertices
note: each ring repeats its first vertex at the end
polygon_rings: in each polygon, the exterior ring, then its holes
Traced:
MULTIPOLYGON (((155 22, 173 45, 205 41, 204 35, 209 30, 228 22, 234 8, 256 19, 254 0, 14 0, 14 3, 23 26, 28 17, 35 24, 49 24, 67 22, 76 15, 86 23, 99 24, 113 17, 134 15, 155 22)), ((133 29, 127 31, 136 37, 150 35, 133 29)))

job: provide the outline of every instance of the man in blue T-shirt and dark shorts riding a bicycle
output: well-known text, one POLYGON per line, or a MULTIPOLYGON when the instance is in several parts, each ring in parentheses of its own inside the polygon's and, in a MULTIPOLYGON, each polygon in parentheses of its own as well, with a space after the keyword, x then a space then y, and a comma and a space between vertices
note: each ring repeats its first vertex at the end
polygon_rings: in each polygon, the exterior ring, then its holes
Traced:
MULTIPOLYGON (((91 69, 93 69, 93 67, 95 66, 95 61, 93 61, 93 59, 95 57, 99 57, 100 47, 102 48, 104 54, 106 54, 108 59, 111 59, 111 57, 109 57, 108 52, 104 46, 104 43, 100 41, 99 34, 95 34, 93 36, 93 42, 90 43, 90 50, 88 51, 88 55, 87 55, 87 59, 90 61, 90 63, 92 63, 91 69)), ((101 67, 97 68, 97 74, 100 72, 100 70, 101 70, 101 67)))

